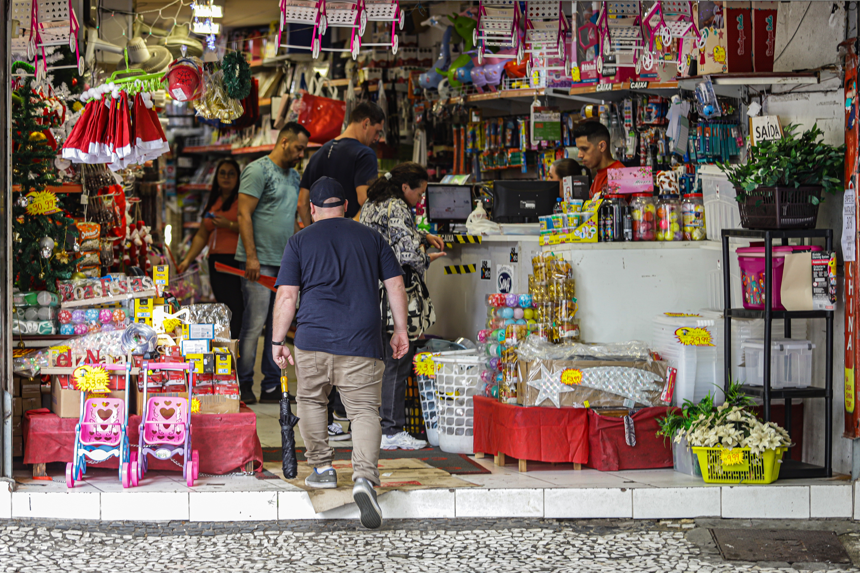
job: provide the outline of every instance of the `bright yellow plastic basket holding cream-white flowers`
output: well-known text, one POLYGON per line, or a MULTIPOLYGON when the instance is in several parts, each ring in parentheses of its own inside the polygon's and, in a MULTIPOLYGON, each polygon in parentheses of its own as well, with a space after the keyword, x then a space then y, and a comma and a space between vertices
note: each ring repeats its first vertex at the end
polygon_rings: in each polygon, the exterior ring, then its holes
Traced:
POLYGON ((708 484, 772 484, 779 478, 779 466, 786 448, 766 449, 751 454, 750 448, 702 448, 693 446, 702 478, 708 484))

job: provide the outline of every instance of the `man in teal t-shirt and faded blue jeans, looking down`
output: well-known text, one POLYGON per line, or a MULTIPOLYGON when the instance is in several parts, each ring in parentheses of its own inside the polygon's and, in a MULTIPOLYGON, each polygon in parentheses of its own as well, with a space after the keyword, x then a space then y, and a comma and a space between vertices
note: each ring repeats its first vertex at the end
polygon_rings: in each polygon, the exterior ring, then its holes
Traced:
MULTIPOLYGON (((290 122, 278 134, 272 153, 250 162, 239 180, 239 244, 237 261, 245 271, 242 294, 245 312, 239 335, 237 375, 245 404, 257 400, 254 364, 257 343, 263 327, 266 339, 272 338, 274 293, 255 281, 260 275, 277 277, 286 241, 292 236, 298 204, 298 172, 293 169, 304 154, 310 132, 290 122)), ((289 327, 289 325, 287 325, 289 327)), ((268 352, 262 357, 263 381, 260 401, 270 404, 280 399, 280 369, 268 352)))

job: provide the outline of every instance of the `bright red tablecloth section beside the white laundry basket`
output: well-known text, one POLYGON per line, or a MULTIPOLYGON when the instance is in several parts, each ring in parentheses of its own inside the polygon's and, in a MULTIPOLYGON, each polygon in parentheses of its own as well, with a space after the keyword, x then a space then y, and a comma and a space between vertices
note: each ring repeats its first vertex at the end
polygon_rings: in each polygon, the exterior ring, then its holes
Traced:
POLYGON ((483 396, 476 396, 474 404, 476 452, 501 452, 517 460, 587 463, 586 408, 525 407, 483 396))

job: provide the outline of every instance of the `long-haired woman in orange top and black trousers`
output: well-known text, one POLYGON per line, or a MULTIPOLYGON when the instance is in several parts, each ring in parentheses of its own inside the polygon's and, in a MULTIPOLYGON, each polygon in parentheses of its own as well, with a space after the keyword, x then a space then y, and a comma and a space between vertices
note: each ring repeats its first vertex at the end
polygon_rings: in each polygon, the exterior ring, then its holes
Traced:
POLYGON ((239 241, 239 164, 224 159, 215 169, 212 192, 204 209, 203 222, 191 241, 191 248, 177 267, 185 272, 197 258, 203 247, 209 245, 209 282, 215 300, 230 308, 230 338, 239 338, 242 330, 242 314, 245 308, 242 297, 242 278, 215 270, 215 263, 238 268, 234 259, 239 241))

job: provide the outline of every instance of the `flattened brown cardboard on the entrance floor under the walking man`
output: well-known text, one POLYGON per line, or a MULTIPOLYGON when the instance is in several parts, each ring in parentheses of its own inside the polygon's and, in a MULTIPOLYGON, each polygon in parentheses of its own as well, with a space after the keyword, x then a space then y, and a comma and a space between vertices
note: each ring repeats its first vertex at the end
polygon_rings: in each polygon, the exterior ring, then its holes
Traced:
MULTIPOLYGON (((279 462, 263 462, 269 472, 278 475, 286 483, 295 485, 308 492, 314 511, 320 513, 329 509, 339 508, 347 503, 353 503, 353 463, 350 460, 335 460, 332 462, 337 470, 337 488, 318 490, 304 485, 304 479, 313 469, 308 462, 298 462, 298 475, 295 479, 284 479, 279 462)), ((464 479, 455 478, 438 467, 430 466, 415 458, 395 460, 379 460, 379 480, 381 485, 376 488, 381 496, 388 491, 438 490, 459 487, 478 487, 464 479)))

